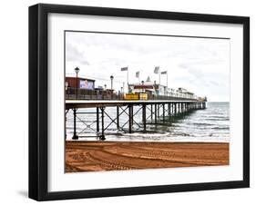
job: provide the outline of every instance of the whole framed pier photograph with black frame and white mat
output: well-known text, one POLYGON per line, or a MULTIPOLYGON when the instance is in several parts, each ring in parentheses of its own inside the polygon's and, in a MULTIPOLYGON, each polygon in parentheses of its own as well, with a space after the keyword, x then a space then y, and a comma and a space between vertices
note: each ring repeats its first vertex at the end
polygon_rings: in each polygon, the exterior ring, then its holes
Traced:
POLYGON ((29 7, 29 197, 250 186, 250 19, 29 7))

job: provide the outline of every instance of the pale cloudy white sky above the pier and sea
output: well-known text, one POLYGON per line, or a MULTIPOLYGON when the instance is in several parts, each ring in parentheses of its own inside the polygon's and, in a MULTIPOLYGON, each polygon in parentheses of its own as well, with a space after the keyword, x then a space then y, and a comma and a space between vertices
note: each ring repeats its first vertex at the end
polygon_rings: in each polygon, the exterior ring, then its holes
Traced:
POLYGON ((66 75, 96 80, 97 86, 113 87, 118 92, 123 83, 160 83, 169 88, 185 88, 209 102, 230 101, 230 40, 137 34, 99 34, 66 32, 66 75), (139 78, 136 77, 139 72, 139 78))

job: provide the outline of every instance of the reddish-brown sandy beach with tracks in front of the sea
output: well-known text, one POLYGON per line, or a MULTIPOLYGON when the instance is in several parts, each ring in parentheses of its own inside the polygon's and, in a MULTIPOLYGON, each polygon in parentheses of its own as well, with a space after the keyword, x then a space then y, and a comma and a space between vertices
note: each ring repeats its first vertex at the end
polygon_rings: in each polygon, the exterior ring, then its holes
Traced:
POLYGON ((66 142, 66 172, 229 164, 229 143, 66 142))

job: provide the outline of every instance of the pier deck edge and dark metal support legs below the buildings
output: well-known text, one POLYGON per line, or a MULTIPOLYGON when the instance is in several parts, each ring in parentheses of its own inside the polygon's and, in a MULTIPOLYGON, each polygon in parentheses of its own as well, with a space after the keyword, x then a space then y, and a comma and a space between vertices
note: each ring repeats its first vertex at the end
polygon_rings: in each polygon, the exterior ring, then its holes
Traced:
MULTIPOLYGON (((83 131, 90 130, 95 133, 95 136, 100 140, 106 139, 108 128, 110 125, 115 125, 117 131, 120 132, 147 132, 148 123, 164 123, 169 118, 175 118, 180 114, 186 114, 191 111, 205 109, 205 100, 158 100, 158 101, 85 101, 85 100, 67 100, 66 101, 66 114, 68 111, 73 111, 73 140, 78 140, 83 136, 83 132, 77 133, 77 121, 85 125, 83 131), (110 116, 106 111, 107 107, 114 107, 115 117, 110 116), (134 108, 137 108, 136 110, 134 108), (81 112, 87 108, 95 109, 95 112, 81 112), (148 112, 147 112, 148 111, 148 112), (95 120, 91 122, 82 120, 78 115, 80 114, 95 114, 95 120), (139 122, 134 119, 139 114, 139 122), (120 116, 126 115, 126 122, 120 122, 120 116), (108 120, 108 123, 106 121, 108 120), (92 124, 96 123, 96 129, 92 124), (135 126, 136 129, 135 129, 135 126)), ((92 109, 90 109, 92 110, 92 109)), ((138 119, 138 118, 137 118, 138 119)))

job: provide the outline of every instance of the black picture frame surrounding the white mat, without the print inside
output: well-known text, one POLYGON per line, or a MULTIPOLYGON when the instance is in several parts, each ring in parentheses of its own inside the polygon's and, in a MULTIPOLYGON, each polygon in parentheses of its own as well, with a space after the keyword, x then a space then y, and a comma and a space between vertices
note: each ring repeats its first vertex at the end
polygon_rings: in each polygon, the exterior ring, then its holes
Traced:
POLYGON ((191 190, 221 190, 250 187, 250 18, 201 15, 76 5, 32 5, 29 7, 29 198, 67 200, 191 190), (99 190, 47 190, 47 15, 121 16, 192 22, 243 25, 243 180, 155 185, 99 190))

